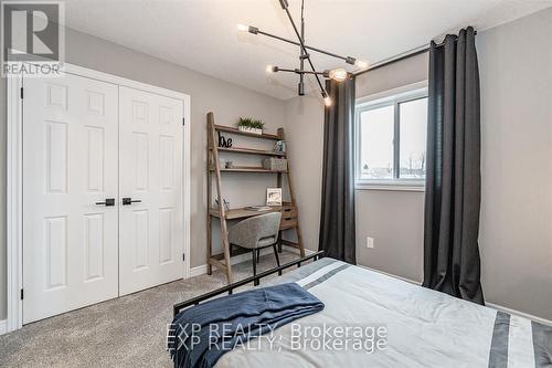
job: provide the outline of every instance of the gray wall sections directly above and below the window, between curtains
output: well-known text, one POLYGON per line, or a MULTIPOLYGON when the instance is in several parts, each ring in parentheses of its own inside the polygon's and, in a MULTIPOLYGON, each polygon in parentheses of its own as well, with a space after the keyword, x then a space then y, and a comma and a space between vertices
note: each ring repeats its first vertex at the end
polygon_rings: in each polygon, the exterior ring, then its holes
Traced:
MULTIPOLYGON (((427 80, 427 53, 357 78, 357 97, 427 80)), ((424 192, 357 190, 359 264, 421 282, 423 278, 424 192), (367 236, 374 248, 367 248, 367 236)))

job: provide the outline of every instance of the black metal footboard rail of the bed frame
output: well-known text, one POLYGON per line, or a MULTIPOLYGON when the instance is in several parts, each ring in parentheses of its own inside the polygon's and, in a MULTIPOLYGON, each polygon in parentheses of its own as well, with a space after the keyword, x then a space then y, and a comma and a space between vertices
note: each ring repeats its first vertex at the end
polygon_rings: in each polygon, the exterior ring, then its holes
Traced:
POLYGON ((259 274, 257 274, 255 276, 251 276, 251 277, 247 277, 247 278, 244 278, 244 280, 241 280, 241 281, 236 281, 236 282, 234 282, 232 284, 229 284, 229 285, 226 285, 224 287, 214 290, 214 291, 205 293, 203 295, 195 296, 195 297, 193 297, 191 299, 188 299, 185 302, 174 304, 173 307, 172 307, 173 317, 176 317, 177 314, 180 313, 180 311, 185 309, 185 308, 188 308, 188 307, 190 307, 192 305, 198 305, 201 302, 204 302, 206 299, 210 299, 210 298, 212 298, 214 296, 217 296, 217 295, 221 295, 221 294, 226 294, 227 293, 229 295, 231 295, 233 293, 234 288, 237 288, 240 286, 244 286, 244 285, 250 284, 250 283, 253 283, 254 285, 258 285, 261 278, 264 278, 264 277, 269 276, 269 275, 275 274, 275 273, 278 273, 278 276, 282 276, 282 271, 284 271, 286 269, 293 267, 295 265, 297 267, 300 267, 301 264, 305 263, 305 262, 307 262, 307 261, 310 261, 310 260, 318 261, 321 257, 323 257, 323 251, 320 251, 320 252, 317 252, 317 253, 312 253, 312 254, 304 256, 304 257, 301 257, 299 260, 296 260, 296 261, 283 264, 279 267, 262 272, 262 273, 259 273, 259 274))

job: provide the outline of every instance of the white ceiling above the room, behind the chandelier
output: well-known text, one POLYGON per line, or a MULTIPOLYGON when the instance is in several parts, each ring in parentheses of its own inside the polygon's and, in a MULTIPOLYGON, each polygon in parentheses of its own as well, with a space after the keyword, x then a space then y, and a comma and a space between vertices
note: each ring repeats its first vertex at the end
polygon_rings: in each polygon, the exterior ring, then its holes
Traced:
MULTIPOLYGON (((300 0, 288 0, 296 21, 300 0)), ((371 63, 466 25, 488 29, 552 0, 305 0, 307 44, 371 63)), ((278 98, 296 95, 298 48, 240 33, 237 23, 294 38, 278 0, 66 0, 67 27, 278 98)), ((319 70, 346 66, 312 53, 319 70)), ((352 70, 349 67, 349 70, 352 70)), ((309 86, 315 87, 309 77, 309 86)))

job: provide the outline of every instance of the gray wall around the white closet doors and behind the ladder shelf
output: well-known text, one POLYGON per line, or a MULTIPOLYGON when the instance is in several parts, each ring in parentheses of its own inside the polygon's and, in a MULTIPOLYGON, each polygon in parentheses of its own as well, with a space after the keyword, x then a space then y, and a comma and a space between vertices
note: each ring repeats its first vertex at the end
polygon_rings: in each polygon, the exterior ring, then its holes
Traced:
MULTIPOLYGON (((156 86, 191 95, 191 266, 205 263, 205 192, 206 192, 206 123, 205 114, 215 113, 217 124, 233 125, 241 115, 262 118, 269 132, 284 125, 285 102, 236 86, 234 84, 197 73, 156 57, 141 54, 112 42, 81 32, 66 32, 66 62, 93 70, 119 75, 156 86)), ((2 83, 2 91, 4 83, 2 83)), ((2 120, 0 124, 0 150, 6 153, 6 99, 0 96, 2 120)), ((0 212, 0 319, 6 318, 6 160, 1 160, 1 212, 0 212)), ((242 179, 229 177, 225 191, 231 192, 232 204, 263 202, 265 190, 275 179, 251 175, 242 179), (253 187, 252 187, 253 186, 253 187), (252 194, 254 193, 254 194, 252 194)))

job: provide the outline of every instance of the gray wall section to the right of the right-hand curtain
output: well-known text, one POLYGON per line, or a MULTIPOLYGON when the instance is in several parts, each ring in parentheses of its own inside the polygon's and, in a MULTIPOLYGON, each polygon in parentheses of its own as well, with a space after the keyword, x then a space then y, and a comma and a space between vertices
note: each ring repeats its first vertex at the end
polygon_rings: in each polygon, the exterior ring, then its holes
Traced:
POLYGON ((552 9, 477 36, 486 299, 552 320, 552 9))

